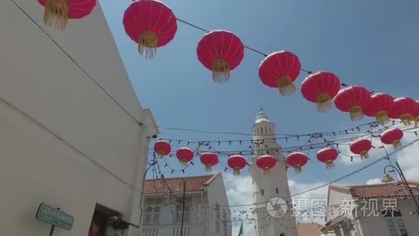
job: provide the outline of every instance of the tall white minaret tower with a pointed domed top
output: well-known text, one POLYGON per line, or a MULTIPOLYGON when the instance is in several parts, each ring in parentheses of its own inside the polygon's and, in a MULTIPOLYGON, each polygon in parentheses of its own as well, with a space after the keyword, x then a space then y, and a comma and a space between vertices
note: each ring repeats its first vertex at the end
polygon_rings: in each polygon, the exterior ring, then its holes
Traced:
MULTIPOLYGON (((254 209, 256 236, 297 236, 296 220, 292 214, 292 199, 288 197, 290 193, 286 160, 278 152, 280 145, 276 144, 275 138, 275 124, 269 121, 260 109, 253 126, 254 156, 249 167, 253 179, 253 199, 256 204, 254 209), (256 159, 266 154, 272 155, 277 160, 275 167, 267 176, 263 175, 263 170, 256 166, 256 159), (275 197, 287 201, 287 213, 280 217, 272 217, 267 212, 266 202, 275 197)), ((271 206, 274 204, 275 202, 271 206)), ((279 209, 280 206, 276 205, 274 208, 279 209)))

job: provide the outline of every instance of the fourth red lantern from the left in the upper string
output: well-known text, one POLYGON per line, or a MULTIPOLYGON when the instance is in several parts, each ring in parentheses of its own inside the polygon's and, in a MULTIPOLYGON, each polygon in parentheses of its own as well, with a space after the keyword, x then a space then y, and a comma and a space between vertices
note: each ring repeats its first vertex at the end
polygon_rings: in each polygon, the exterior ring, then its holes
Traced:
POLYGON ((300 69, 300 60, 292 52, 274 52, 260 63, 259 78, 266 86, 278 88, 281 95, 292 95, 300 69))

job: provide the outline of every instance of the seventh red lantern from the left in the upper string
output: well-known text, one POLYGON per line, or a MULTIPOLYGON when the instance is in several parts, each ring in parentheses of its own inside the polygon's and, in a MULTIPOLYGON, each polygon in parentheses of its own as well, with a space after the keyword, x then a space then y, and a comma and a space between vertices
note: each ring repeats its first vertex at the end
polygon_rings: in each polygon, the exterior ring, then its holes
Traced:
POLYGON ((384 125, 390 121, 388 112, 393 107, 393 97, 382 92, 371 96, 371 101, 364 106, 362 112, 369 117, 376 117, 378 124, 384 125))

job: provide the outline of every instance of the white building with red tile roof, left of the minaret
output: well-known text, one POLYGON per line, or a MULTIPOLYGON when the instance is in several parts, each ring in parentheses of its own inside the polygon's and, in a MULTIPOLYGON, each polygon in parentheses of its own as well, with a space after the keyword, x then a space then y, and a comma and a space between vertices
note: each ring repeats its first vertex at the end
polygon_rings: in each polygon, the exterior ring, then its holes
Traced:
POLYGON ((186 183, 183 236, 231 236, 228 224, 231 216, 221 173, 165 178, 165 182, 147 179, 142 204, 143 236, 180 235, 183 181, 186 183), (174 202, 163 194, 170 190, 176 195, 174 202))

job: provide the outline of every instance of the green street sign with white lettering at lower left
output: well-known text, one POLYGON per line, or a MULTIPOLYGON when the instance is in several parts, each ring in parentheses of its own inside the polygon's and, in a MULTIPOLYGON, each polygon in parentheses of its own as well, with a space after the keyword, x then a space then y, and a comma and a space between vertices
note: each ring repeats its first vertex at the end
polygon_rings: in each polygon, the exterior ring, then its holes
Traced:
POLYGON ((69 231, 72 229, 74 222, 72 215, 44 203, 39 205, 37 219, 69 231))

